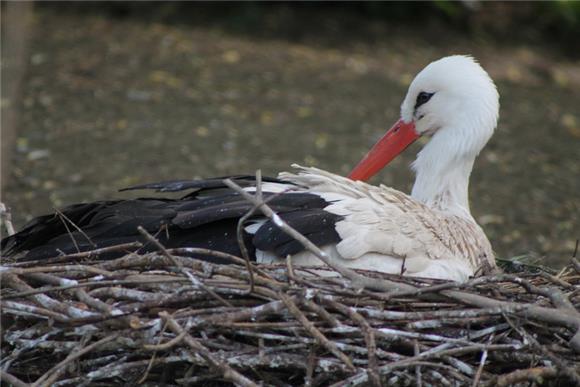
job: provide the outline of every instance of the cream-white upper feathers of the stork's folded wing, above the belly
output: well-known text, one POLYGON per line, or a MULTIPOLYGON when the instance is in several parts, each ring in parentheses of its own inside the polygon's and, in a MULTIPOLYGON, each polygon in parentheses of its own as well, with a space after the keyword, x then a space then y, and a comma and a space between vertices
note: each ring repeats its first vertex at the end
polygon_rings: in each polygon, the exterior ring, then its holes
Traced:
POLYGON ((407 268, 421 271, 433 260, 459 259, 477 267, 478 257, 493 259, 485 234, 473 221, 433 210, 392 188, 295 167, 299 173, 279 177, 333 202, 325 211, 343 217, 336 223, 336 249, 345 260, 377 253, 405 259, 407 268))

